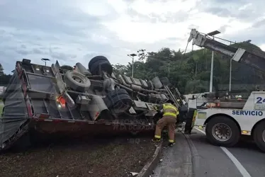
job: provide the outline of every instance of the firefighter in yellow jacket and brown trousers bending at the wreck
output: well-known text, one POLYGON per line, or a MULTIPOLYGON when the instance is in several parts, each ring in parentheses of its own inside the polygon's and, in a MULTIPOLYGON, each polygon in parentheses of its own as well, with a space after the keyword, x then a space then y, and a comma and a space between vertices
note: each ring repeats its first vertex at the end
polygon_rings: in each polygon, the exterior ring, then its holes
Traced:
POLYGON ((163 117, 157 121, 154 138, 152 142, 161 140, 161 132, 165 126, 168 126, 169 146, 174 144, 176 117, 179 115, 179 110, 173 105, 173 101, 167 100, 166 103, 155 107, 159 112, 163 113, 163 117))

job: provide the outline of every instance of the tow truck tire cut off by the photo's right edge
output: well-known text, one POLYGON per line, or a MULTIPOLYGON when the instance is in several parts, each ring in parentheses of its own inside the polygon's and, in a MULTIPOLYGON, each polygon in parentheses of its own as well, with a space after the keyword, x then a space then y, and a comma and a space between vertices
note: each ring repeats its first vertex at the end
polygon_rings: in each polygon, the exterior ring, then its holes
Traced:
POLYGON ((259 122, 254 129, 253 134, 254 142, 256 146, 265 152, 265 121, 259 122))

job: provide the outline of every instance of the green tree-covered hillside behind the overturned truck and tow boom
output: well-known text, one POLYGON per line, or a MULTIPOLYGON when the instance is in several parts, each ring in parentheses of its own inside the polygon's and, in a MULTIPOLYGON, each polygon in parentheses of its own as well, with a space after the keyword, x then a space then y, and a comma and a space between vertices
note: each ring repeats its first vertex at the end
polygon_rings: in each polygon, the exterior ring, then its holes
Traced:
MULTIPOLYGON (((233 47, 247 50, 260 50, 249 42, 241 42, 233 47)), ((171 84, 181 93, 200 93, 209 91, 211 51, 202 49, 184 54, 184 52, 162 48, 158 52, 149 52, 145 62, 134 64, 134 77, 152 79, 154 76, 167 76, 171 84)), ((230 78, 230 58, 215 52, 213 72, 213 90, 227 91, 230 78)), ((132 64, 113 65, 114 71, 131 76, 132 64)), ((232 90, 249 91, 255 84, 261 84, 264 75, 251 67, 232 61, 232 90), (239 86, 240 85, 240 86, 239 86), (247 86, 245 86, 247 85, 247 86), (243 86, 243 87, 242 87, 243 86)))

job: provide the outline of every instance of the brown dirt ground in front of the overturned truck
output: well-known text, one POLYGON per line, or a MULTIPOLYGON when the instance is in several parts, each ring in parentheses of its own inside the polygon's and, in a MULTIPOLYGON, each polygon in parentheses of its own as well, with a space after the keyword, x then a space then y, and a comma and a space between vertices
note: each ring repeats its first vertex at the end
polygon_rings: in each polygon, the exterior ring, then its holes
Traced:
POLYGON ((156 147, 152 137, 69 140, 0 155, 0 176, 131 176, 156 147))

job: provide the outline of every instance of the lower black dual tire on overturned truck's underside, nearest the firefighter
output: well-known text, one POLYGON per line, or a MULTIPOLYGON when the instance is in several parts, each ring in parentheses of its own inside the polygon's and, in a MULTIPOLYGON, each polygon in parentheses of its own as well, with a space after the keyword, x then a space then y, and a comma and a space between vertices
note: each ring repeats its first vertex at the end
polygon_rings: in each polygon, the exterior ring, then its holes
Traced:
POLYGON ((104 101, 107 107, 113 110, 116 115, 124 113, 133 105, 133 101, 125 89, 115 89, 111 91, 106 98, 104 98, 104 101))

